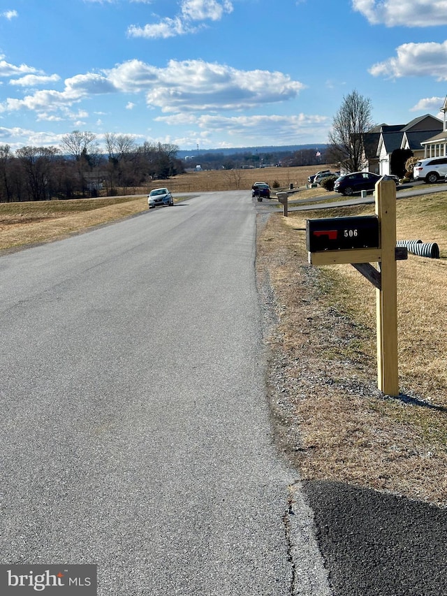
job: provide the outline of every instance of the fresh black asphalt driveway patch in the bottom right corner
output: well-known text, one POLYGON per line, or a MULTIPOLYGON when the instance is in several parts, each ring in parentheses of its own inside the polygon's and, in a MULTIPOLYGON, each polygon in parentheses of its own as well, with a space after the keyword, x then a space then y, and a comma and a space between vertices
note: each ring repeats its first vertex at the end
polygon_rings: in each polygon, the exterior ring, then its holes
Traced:
POLYGON ((341 482, 303 487, 335 596, 447 595, 447 509, 341 482))

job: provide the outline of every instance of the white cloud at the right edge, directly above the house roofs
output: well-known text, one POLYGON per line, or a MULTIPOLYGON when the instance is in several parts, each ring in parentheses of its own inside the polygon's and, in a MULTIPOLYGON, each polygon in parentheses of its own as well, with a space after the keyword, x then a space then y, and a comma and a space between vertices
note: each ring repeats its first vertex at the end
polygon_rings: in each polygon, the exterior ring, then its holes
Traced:
POLYGON ((397 55, 369 68, 373 76, 386 78, 434 77, 447 80, 447 41, 444 43, 404 43, 397 55))

